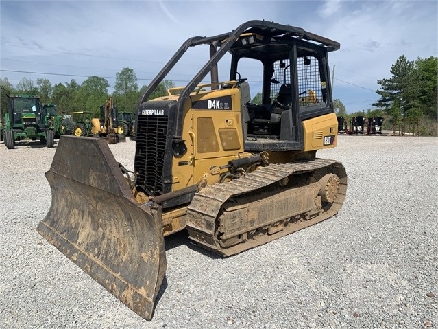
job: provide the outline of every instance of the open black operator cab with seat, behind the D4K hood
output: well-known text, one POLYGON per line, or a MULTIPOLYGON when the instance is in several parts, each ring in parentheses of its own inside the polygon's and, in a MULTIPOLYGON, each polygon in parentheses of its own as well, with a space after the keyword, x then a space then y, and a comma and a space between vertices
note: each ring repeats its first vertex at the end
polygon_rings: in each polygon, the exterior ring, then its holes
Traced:
POLYGON ((245 67, 260 68, 250 74, 261 82, 239 84, 245 150, 302 148, 301 122, 332 112, 327 47, 253 28, 229 52, 230 80, 239 80, 245 67))

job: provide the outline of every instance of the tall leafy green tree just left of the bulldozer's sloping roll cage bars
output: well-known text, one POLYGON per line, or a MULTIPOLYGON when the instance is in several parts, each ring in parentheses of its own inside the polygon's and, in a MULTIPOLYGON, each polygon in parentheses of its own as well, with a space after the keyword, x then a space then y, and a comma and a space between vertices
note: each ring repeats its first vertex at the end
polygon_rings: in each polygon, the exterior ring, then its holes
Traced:
POLYGON ((119 105, 119 111, 132 111, 138 102, 137 77, 133 69, 124 67, 120 73, 116 74, 114 84, 114 98, 119 105))

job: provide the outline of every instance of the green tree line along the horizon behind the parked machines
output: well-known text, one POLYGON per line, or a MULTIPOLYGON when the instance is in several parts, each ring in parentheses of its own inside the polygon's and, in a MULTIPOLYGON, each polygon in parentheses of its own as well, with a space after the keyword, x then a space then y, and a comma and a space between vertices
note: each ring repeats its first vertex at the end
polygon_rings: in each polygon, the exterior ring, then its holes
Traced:
MULTIPOLYGON (((437 76, 438 58, 417 58, 407 60, 402 55, 391 66, 391 78, 379 79, 380 89, 376 93, 380 99, 373 104, 374 109, 363 109, 356 113, 347 113, 341 100, 334 100, 337 115, 349 119, 363 115, 385 117, 387 125, 399 119, 420 119, 424 135, 437 135, 437 76)), ((27 93, 40 95, 42 102, 53 102, 63 113, 73 111, 93 111, 99 113, 100 106, 108 99, 110 84, 105 78, 90 76, 82 84, 75 79, 54 86, 46 78, 38 78, 36 82, 28 78, 20 80, 15 87, 8 78, 0 79, 1 115, 6 109, 6 94, 27 93)), ((136 74, 133 69, 123 68, 116 74, 112 98, 119 111, 136 111, 138 99, 146 85, 138 87, 136 74)), ((171 80, 164 80, 150 98, 167 94, 167 89, 175 87, 171 80)), ((261 98, 256 95, 254 101, 261 98)))

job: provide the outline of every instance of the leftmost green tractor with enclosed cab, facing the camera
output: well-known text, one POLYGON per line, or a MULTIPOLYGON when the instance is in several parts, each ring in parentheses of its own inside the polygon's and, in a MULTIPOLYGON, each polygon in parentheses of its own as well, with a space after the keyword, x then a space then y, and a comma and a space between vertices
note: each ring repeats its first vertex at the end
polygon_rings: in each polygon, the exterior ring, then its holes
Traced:
POLYGON ((8 149, 15 148, 15 141, 39 139, 41 144, 53 148, 53 124, 42 109, 40 96, 8 95, 8 111, 3 115, 1 137, 8 149))

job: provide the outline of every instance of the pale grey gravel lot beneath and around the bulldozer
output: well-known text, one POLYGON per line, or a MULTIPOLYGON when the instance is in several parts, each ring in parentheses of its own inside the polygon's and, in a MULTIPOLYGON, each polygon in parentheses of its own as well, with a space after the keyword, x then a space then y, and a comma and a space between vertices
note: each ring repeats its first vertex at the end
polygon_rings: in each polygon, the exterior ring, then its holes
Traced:
POLYGON ((347 169, 339 214, 237 256, 169 236, 150 322, 36 231, 56 148, 0 144, 0 328, 438 328, 437 141, 340 136, 318 153, 347 169))

